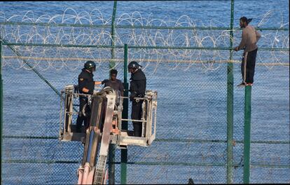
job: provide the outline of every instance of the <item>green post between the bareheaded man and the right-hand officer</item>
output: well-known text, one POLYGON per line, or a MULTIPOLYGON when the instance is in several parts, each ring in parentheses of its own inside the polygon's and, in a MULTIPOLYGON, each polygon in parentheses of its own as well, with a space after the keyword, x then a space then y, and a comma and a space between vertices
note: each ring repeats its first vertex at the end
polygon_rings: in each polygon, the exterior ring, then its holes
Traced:
MULTIPOLYGON (((125 43, 125 50, 124 50, 124 97, 128 97, 129 95, 129 85, 127 83, 127 63, 128 63, 128 45, 125 43)), ((129 107, 129 100, 124 99, 123 101, 123 112, 122 118, 128 118, 128 107, 129 107)), ((128 129, 127 121, 122 121, 122 130, 128 129)), ((121 149, 121 184, 127 184, 127 149, 121 149)))

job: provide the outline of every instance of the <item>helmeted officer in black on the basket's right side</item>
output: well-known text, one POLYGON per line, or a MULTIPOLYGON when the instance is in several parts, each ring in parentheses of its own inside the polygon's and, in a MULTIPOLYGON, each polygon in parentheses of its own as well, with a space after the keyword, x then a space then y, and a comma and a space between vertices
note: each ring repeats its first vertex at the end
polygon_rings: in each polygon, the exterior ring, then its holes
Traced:
MULTIPOLYGON (((136 100, 135 97, 144 97, 146 91, 146 76, 141 70, 141 65, 132 61, 128 64, 128 71, 131 73, 130 78, 130 101, 132 102, 132 114, 133 120, 140 120, 142 113, 143 100, 136 100)), ((134 136, 141 137, 142 123, 132 121, 134 127, 134 136)))

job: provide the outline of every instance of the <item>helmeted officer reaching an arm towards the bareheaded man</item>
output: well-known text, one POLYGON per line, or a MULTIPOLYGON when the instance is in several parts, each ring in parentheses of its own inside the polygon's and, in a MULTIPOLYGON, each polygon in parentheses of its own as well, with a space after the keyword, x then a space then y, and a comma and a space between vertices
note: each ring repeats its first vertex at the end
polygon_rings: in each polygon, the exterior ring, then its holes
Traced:
MULTIPOLYGON (((92 78, 94 75, 92 72, 96 70, 96 64, 93 61, 85 62, 85 67, 82 69, 81 74, 78 75, 78 91, 79 93, 92 95, 94 93, 95 85, 103 84, 104 81, 94 81, 92 78)), ((80 107, 79 114, 76 120, 76 132, 81 132, 81 125, 84 122, 85 129, 90 125, 90 107, 85 106, 88 104, 87 96, 80 96, 80 107), (86 115, 82 114, 83 108, 85 107, 86 115)))

